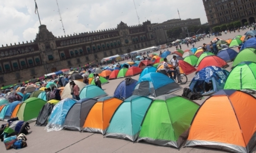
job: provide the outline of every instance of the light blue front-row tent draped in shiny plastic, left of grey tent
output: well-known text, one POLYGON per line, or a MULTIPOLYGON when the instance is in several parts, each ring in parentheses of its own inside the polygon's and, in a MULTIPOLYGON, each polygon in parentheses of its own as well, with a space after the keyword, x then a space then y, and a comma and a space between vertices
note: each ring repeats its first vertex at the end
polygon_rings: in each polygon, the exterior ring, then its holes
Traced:
POLYGON ((49 117, 48 124, 46 125, 47 131, 59 131, 63 129, 66 115, 70 108, 76 103, 75 99, 65 98, 57 103, 49 117))

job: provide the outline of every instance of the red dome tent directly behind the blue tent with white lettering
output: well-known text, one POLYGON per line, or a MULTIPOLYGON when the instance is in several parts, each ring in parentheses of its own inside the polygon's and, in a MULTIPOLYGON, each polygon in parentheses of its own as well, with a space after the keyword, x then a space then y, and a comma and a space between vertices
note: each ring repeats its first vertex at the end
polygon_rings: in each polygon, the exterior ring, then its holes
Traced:
POLYGON ((218 66, 220 68, 227 68, 229 67, 229 65, 222 60, 220 57, 215 56, 215 55, 211 55, 211 56, 206 56, 204 57, 198 67, 197 67, 197 72, 202 70, 203 68, 207 67, 207 66, 218 66))

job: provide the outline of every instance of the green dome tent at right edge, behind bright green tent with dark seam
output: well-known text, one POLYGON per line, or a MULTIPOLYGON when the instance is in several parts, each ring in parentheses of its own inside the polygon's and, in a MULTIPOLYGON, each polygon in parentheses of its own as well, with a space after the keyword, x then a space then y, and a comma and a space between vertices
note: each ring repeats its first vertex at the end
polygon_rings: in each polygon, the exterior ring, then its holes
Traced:
POLYGON ((244 48, 237 54, 235 60, 232 64, 232 68, 238 65, 240 62, 249 61, 256 62, 256 49, 254 48, 244 48))

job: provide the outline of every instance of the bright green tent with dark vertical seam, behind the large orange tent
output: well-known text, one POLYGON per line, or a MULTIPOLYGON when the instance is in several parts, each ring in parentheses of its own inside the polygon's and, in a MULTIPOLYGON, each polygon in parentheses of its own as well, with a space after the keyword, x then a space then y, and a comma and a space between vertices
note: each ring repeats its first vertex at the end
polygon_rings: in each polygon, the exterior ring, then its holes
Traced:
POLYGON ((256 63, 241 62, 235 66, 226 80, 224 89, 256 92, 256 63))

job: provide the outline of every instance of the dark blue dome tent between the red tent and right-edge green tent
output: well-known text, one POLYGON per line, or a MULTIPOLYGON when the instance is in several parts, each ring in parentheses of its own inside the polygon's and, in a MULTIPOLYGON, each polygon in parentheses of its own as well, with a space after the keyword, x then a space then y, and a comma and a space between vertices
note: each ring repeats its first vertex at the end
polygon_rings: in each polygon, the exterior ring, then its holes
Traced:
POLYGON ((231 62, 237 57, 238 52, 234 51, 231 48, 224 48, 220 50, 217 54, 221 59, 223 59, 226 62, 231 62))

